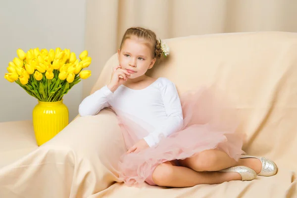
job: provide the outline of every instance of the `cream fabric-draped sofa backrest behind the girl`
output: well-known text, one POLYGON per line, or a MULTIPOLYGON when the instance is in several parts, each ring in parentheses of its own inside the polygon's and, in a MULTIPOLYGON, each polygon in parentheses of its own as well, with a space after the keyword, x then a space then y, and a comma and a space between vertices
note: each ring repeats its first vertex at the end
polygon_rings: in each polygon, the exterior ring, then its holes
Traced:
MULTIPOLYGON (((280 136, 293 137, 297 129, 297 33, 227 33, 165 42, 170 55, 148 72, 150 76, 168 78, 180 94, 201 85, 223 90, 236 101, 243 121, 239 130, 247 133, 246 146, 251 150, 257 141, 266 139, 270 142, 264 152, 272 151, 280 136)), ((109 82, 117 64, 114 54, 92 93, 109 82)))

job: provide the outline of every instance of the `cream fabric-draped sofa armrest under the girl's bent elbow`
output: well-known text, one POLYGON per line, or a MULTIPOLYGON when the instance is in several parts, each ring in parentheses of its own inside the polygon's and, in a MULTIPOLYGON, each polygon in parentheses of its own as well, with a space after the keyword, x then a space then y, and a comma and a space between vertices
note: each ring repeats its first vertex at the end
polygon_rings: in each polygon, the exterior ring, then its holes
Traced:
POLYGON ((49 142, 0 169, 0 197, 88 197, 119 182, 116 166, 125 151, 113 112, 77 117, 49 142))

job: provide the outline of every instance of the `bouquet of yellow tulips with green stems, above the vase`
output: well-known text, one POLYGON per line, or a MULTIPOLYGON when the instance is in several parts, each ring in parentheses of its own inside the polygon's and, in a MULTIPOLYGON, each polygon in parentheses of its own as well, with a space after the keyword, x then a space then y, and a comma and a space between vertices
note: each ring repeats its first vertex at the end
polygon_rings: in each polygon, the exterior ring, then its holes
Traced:
POLYGON ((60 101, 81 79, 91 76, 92 58, 84 50, 76 58, 70 49, 30 49, 26 53, 16 50, 18 57, 8 63, 4 78, 15 82, 39 101, 60 101))

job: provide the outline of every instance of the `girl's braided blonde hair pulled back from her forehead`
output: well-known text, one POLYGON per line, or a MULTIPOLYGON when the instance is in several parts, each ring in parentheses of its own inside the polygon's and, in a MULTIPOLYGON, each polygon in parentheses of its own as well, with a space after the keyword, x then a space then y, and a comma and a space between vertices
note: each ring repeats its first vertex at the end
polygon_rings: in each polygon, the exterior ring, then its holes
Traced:
POLYGON ((160 58, 162 55, 162 49, 160 41, 156 38, 156 34, 148 29, 141 28, 141 27, 131 27, 126 30, 122 42, 120 45, 120 49, 122 49, 124 42, 126 39, 130 39, 131 36, 136 36, 141 39, 145 39, 152 44, 152 55, 153 58, 160 58))

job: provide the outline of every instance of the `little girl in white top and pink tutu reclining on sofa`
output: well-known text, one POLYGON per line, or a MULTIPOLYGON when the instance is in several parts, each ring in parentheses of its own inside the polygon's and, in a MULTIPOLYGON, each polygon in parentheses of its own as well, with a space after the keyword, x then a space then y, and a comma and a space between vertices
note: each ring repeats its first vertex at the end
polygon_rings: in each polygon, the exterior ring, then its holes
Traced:
POLYGON ((242 155, 243 136, 234 125, 217 121, 224 116, 214 112, 218 103, 208 90, 180 99, 171 81, 146 75, 168 52, 160 42, 148 29, 129 28, 109 84, 79 106, 81 116, 110 107, 119 117, 128 149, 119 177, 129 185, 191 187, 276 174, 273 161, 242 155))

